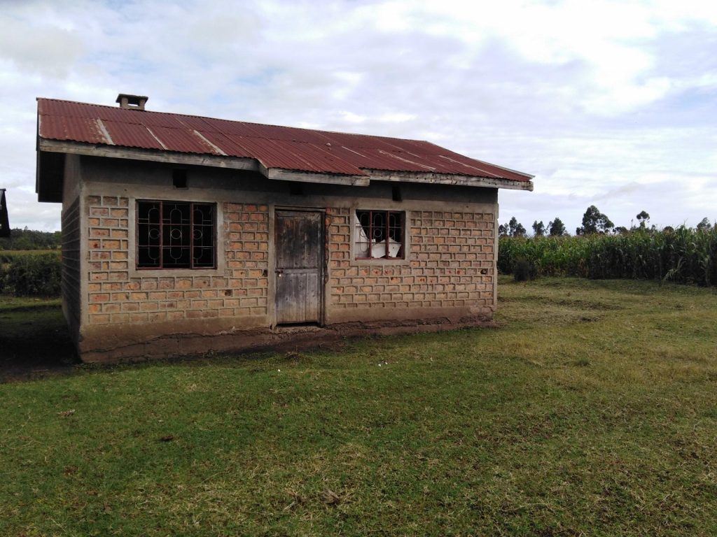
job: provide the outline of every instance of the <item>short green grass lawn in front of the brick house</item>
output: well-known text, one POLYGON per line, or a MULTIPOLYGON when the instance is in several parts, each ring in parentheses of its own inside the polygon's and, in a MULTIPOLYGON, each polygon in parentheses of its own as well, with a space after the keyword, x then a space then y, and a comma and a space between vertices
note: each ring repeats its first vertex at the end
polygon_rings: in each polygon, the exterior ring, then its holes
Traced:
POLYGON ((1 384, 0 535, 717 534, 716 292, 499 289, 499 329, 1 384))

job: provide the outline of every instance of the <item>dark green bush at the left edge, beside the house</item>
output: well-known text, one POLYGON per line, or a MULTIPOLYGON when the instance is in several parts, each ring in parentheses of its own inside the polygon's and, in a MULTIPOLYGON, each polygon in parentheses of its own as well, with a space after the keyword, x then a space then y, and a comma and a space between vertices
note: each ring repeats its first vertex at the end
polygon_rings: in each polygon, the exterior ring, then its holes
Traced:
POLYGON ((0 264, 0 292, 15 296, 59 296, 62 261, 55 253, 14 256, 0 264))

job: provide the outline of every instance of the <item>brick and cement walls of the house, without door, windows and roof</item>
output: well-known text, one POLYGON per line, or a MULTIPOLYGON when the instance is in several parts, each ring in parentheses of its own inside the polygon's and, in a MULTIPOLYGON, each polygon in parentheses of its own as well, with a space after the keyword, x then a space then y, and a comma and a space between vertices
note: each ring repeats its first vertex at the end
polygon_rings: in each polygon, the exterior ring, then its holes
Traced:
POLYGON ((242 333, 275 324, 275 208, 325 215, 324 319, 329 326, 410 321, 461 324, 495 308, 497 190, 402 185, 369 187, 267 182, 237 170, 196 168, 190 188, 171 186, 171 165, 82 158, 79 203, 65 210, 68 280, 79 315, 77 346, 85 361, 229 349, 242 333), (138 200, 212 203, 214 269, 138 269, 138 200), (357 209, 401 211, 407 255, 353 258, 357 209), (78 218, 79 216, 79 218, 78 218), (73 264, 74 263, 74 264, 73 264), (77 284, 79 280, 79 284, 77 284), (75 282, 75 283, 73 283, 75 282), (239 335, 237 335, 239 334, 239 335), (210 336, 212 338, 207 338, 210 336), (216 343, 216 345, 215 345, 216 343))

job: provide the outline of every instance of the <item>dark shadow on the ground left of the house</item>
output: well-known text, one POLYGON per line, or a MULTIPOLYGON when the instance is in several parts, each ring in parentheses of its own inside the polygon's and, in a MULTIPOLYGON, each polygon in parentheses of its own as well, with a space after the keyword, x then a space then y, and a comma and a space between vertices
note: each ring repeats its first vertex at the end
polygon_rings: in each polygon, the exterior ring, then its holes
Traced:
POLYGON ((77 363, 59 300, 0 295, 0 382, 70 372, 77 363))

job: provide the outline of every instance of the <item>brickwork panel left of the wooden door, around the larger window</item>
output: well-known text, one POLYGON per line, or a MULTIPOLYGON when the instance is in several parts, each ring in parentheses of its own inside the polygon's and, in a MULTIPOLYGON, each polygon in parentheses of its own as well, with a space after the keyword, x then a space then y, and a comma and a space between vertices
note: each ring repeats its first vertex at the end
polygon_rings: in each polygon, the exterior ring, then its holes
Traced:
POLYGON ((217 258, 223 269, 138 271, 130 203, 123 196, 86 198, 89 325, 267 314, 267 205, 222 204, 217 258))

